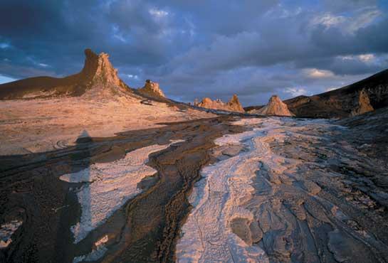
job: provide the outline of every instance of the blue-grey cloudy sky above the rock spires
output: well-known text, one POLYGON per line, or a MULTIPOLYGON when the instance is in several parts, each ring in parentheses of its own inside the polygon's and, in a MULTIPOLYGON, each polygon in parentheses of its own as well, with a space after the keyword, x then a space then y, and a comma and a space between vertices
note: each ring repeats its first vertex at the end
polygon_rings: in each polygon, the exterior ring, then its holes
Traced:
POLYGON ((387 69, 388 1, 1 1, 0 83, 78 73, 85 48, 130 87, 265 104, 387 69))

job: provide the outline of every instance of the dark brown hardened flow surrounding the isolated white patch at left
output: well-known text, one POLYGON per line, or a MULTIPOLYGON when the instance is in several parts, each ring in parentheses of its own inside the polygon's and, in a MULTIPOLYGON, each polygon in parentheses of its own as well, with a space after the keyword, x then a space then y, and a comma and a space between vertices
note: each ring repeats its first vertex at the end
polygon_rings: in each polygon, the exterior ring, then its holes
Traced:
MULTIPOLYGON (((75 146, 42 154, 1 156, 1 222, 21 220, 9 248, 0 250, 6 262, 73 262, 98 250, 108 235, 101 262, 170 262, 179 227, 187 215, 186 196, 199 170, 211 161, 214 139, 244 128, 232 117, 167 124, 157 129, 124 132, 111 138, 83 138, 75 146), (102 225, 74 245, 72 225, 82 214, 77 193, 85 182, 68 183, 63 175, 79 173, 93 163, 108 163, 130 151, 184 140, 149 156, 157 174, 140 183, 143 192, 128 200, 102 225)), ((82 180, 81 180, 82 181, 82 180)), ((88 183, 88 182, 86 182, 88 183)))

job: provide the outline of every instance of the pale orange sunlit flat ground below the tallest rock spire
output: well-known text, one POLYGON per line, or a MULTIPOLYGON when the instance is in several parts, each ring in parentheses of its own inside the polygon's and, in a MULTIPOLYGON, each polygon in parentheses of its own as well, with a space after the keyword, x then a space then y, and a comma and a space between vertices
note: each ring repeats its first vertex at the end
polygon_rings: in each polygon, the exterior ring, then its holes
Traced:
POLYGON ((74 145, 80 136, 107 137, 133 129, 161 127, 214 114, 179 110, 165 103, 141 104, 119 97, 108 102, 65 97, 0 102, 0 155, 31 154, 74 145))

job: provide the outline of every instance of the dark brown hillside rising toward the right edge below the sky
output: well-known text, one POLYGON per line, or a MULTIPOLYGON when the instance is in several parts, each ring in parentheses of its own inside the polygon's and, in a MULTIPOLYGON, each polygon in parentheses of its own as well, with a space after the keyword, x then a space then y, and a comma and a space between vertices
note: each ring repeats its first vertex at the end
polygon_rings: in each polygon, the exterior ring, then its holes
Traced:
MULTIPOLYGON (((388 70, 330 92, 285 100, 297 117, 343 118, 388 106, 388 70)), ((246 110, 263 106, 246 107, 246 110)))

